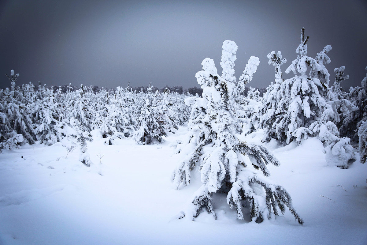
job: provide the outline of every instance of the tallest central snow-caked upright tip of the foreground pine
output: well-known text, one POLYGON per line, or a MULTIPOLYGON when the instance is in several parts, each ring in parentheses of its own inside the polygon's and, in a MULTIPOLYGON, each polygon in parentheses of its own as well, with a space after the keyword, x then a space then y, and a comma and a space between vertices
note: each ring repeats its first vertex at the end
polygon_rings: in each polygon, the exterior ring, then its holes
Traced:
POLYGON ((233 83, 236 82, 235 61, 237 47, 237 44, 230 40, 225 40, 222 45, 222 62, 220 63, 223 69, 222 78, 233 83))

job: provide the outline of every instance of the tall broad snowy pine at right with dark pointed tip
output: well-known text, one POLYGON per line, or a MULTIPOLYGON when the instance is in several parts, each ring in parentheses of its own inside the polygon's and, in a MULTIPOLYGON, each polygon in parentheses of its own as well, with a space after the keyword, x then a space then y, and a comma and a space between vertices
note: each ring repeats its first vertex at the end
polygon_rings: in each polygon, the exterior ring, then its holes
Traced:
POLYGON ((275 112, 267 112, 270 115, 266 116, 274 121, 267 125, 264 138, 274 137, 283 144, 292 141, 300 144, 308 137, 319 136, 326 147, 328 164, 345 168, 354 158, 352 147, 349 138, 339 137, 334 122, 340 121, 338 109, 349 112, 352 107, 335 97, 328 88, 330 75, 325 64, 330 63, 327 53, 331 46, 327 45, 314 59, 307 56, 308 39, 302 28, 301 44, 296 50, 298 56, 286 69, 286 73, 292 71, 295 76, 283 82, 278 79, 281 82, 277 90, 278 107, 275 112), (309 76, 306 75, 308 67, 309 76))

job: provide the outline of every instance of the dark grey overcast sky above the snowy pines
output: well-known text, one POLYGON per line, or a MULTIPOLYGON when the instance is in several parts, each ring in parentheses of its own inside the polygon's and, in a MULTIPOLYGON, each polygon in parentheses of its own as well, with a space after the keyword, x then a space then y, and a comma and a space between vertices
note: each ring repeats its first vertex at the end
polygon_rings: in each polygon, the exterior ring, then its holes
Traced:
MULTIPOLYGON (((346 66, 345 89, 360 86, 367 66, 367 2, 351 1, 0 1, 0 87, 5 74, 18 83, 71 82, 113 88, 199 86, 195 73, 204 58, 221 74, 222 43, 238 45, 236 77, 250 56, 260 65, 248 86, 274 80, 266 55, 280 50, 297 57, 301 28, 310 36, 308 55, 333 47, 327 65, 346 66)), ((291 77, 284 74, 284 78, 291 77)), ((330 85, 331 86, 331 85, 330 85)))

